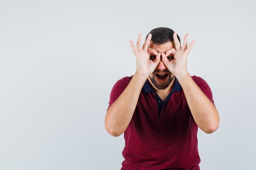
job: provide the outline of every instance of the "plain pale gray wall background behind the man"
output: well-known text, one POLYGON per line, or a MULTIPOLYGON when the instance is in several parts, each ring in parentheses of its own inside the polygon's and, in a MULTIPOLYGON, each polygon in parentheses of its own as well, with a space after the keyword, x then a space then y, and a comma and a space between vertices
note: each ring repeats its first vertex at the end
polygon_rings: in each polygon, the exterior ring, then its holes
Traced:
POLYGON ((220 114, 198 132, 202 170, 256 167, 254 1, 0 0, 0 170, 118 170, 124 134, 104 119, 136 70, 129 40, 169 27, 195 45, 190 75, 220 114))

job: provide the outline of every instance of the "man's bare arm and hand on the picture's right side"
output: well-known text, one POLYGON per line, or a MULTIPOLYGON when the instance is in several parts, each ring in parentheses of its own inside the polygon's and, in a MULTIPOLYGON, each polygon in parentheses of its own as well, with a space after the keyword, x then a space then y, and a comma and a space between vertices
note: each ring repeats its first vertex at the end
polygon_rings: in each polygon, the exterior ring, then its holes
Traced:
POLYGON ((191 110, 193 118, 198 127, 206 133, 212 133, 217 130, 220 117, 213 103, 208 99, 207 96, 204 95, 204 93, 187 72, 186 59, 192 49, 193 44, 195 44, 195 41, 192 41, 187 47, 188 36, 189 34, 185 35, 183 44, 181 46, 179 40, 177 39, 177 33, 173 33, 173 40, 175 42, 176 49, 173 56, 174 59, 168 61, 166 57, 168 54, 162 53, 162 60, 168 70, 171 71, 171 73, 173 73, 180 82, 186 96, 189 109, 191 110))

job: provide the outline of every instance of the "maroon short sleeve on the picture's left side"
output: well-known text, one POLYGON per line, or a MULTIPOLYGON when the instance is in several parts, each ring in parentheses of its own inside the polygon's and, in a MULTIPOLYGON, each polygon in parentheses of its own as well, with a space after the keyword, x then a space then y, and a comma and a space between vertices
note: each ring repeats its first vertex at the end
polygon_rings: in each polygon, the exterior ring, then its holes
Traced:
MULTIPOLYGON (((132 76, 131 76, 132 77, 132 76)), ((131 77, 124 77, 122 79, 119 79, 115 85, 113 86, 111 92, 110 92, 110 99, 108 102, 108 109, 110 108, 110 106, 118 99, 118 97, 123 93, 123 91, 125 90, 125 88, 128 86, 131 77)))

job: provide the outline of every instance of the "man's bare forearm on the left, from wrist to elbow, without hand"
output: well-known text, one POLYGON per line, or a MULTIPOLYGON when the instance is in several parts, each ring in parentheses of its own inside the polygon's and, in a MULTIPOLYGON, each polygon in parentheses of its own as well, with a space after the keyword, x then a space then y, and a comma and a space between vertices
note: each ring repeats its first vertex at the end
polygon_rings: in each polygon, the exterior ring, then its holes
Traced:
POLYGON ((137 74, 133 75, 126 89, 108 109, 105 117, 105 128, 111 135, 119 136, 126 130, 146 78, 137 74))

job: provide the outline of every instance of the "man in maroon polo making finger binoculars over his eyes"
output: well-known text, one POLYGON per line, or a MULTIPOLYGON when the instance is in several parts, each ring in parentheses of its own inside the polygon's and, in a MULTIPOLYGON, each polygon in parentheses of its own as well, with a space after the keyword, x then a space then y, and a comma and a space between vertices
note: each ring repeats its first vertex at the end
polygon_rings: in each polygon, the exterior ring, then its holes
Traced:
POLYGON ((142 47, 141 34, 130 41, 137 70, 114 85, 105 117, 110 135, 124 132, 121 170, 200 170, 198 127, 214 132, 219 114, 207 82, 187 72, 187 39, 156 28, 142 47))

